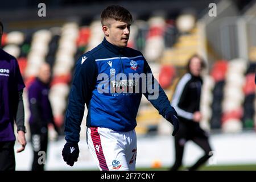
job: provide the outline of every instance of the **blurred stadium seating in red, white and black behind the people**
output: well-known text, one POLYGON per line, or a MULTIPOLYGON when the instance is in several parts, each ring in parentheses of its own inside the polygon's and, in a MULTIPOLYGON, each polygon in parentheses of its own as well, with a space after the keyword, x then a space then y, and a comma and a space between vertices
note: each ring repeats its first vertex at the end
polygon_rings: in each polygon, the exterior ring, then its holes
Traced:
MULTIPOLYGON (((180 16, 177 21, 179 23, 175 26, 173 19, 159 15, 153 15, 148 20, 136 19, 131 26, 128 43, 129 47, 138 49, 146 57, 156 80, 170 100, 177 81, 185 72, 188 58, 198 52, 200 44, 194 17, 180 16)), ((89 24, 67 22, 61 27, 4 32, 2 45, 5 51, 18 59, 27 88, 42 63, 51 65, 49 98, 55 122, 63 127, 76 61, 82 53, 101 43, 103 38, 100 20, 93 19, 89 24)), ((250 57, 254 56, 254 52, 250 51, 250 57)), ((255 68, 255 63, 247 64, 241 59, 216 60, 210 64, 209 73, 203 76, 201 96, 201 126, 204 129, 239 132, 243 127, 255 127, 255 68)), ((28 119, 26 96, 24 102, 28 119)), ((136 130, 141 135, 157 130, 166 133, 171 127, 163 124, 166 121, 144 96, 137 122, 136 130)))

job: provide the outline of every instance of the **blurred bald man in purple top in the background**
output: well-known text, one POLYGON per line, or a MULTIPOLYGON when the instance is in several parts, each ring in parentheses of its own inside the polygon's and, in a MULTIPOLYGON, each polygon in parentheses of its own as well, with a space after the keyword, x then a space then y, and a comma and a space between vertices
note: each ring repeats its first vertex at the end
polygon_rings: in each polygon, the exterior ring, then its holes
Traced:
POLYGON ((52 107, 49 102, 49 82, 51 80, 51 68, 49 64, 43 63, 38 72, 38 76, 28 88, 28 101, 30 105, 30 131, 31 143, 34 152, 32 171, 43 171, 44 164, 39 164, 39 151, 47 154, 48 126, 53 125, 56 132, 58 129, 53 120, 52 107))

